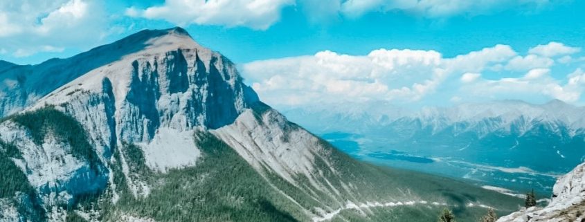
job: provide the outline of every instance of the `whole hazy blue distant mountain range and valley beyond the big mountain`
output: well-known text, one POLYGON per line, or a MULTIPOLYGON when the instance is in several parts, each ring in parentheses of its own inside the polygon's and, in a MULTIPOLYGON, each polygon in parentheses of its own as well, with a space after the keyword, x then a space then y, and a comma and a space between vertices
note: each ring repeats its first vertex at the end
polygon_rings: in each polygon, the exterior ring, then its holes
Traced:
POLYGON ((331 137, 330 142, 358 158, 463 176, 486 185, 550 192, 556 176, 585 158, 585 107, 560 100, 420 110, 384 102, 323 107, 327 108, 298 107, 283 113, 310 131, 331 137), (555 164, 548 164, 551 161, 555 164))

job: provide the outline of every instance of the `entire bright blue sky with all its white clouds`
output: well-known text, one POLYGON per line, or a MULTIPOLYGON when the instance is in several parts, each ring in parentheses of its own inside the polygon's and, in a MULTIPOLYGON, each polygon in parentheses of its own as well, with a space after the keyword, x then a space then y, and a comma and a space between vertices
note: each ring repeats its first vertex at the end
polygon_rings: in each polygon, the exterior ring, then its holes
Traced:
POLYGON ((581 105, 584 8, 567 0, 5 1, 0 59, 37 64, 145 28, 183 26, 240 64, 277 106, 340 97, 581 105), (395 57, 404 61, 388 60, 395 57))

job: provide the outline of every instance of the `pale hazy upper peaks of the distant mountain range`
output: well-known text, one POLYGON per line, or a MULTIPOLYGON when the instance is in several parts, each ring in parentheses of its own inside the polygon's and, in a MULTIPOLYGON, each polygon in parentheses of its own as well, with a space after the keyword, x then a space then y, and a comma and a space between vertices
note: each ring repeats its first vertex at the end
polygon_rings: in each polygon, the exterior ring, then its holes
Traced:
MULTIPOLYGON (((300 119, 300 115, 312 114, 312 118, 325 118, 325 124, 307 124, 316 131, 343 129, 362 132, 372 127, 384 127, 399 121, 420 121, 421 127, 428 127, 433 133, 460 123, 467 125, 454 129, 459 133, 476 131, 478 136, 485 136, 493 131, 527 133, 535 122, 548 122, 563 125, 570 135, 585 129, 585 107, 574 107, 560 100, 551 100, 546 104, 535 105, 519 100, 503 100, 486 103, 466 103, 454 107, 423 107, 420 110, 397 107, 388 102, 364 102, 325 104, 318 107, 292 107, 282 109, 291 118, 300 119), (523 121, 519 119, 523 118, 523 121), (494 124, 484 123, 492 119, 494 124), (497 119, 497 122, 496 122, 497 119), (341 127, 333 122, 341 121, 341 127), (350 124, 348 124, 350 123, 350 124), (345 128, 347 127, 347 128, 345 128), (357 128, 357 129, 355 129, 357 128)), ((308 123, 309 121, 307 121, 308 123)), ((551 126, 553 127, 553 126, 551 126)), ((555 131, 555 133, 563 133, 555 131)))

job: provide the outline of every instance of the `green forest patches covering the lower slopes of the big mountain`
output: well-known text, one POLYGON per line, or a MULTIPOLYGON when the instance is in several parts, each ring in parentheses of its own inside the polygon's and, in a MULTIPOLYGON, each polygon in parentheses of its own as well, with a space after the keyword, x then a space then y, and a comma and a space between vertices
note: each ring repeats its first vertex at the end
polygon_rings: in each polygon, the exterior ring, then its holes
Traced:
MULTIPOLYGON (((260 117, 260 113, 267 110, 267 107, 260 107, 255 115, 260 117)), ((37 143, 53 133, 55 138, 69 142, 73 156, 95 163, 94 166, 101 164, 87 142, 87 136, 80 124, 53 107, 16 115, 12 120, 29 129, 37 143)), ((288 124, 280 139, 288 141, 291 133, 298 129, 300 127, 296 124, 288 124)), ((202 154, 196 166, 171 169, 166 173, 147 167, 141 147, 132 143, 115 147, 109 164, 109 176, 113 176, 113 184, 106 192, 96 194, 99 195, 97 197, 78 197, 75 206, 67 207, 69 214, 66 221, 84 221, 73 209, 98 210, 101 212, 101 221, 116 221, 122 214, 152 218, 159 222, 309 221, 307 211, 321 214, 316 207, 327 211, 336 210, 345 206, 347 200, 358 204, 368 201, 436 201, 454 207, 453 212, 450 212, 457 214, 458 221, 471 221, 485 214, 485 210, 480 207, 466 207, 467 203, 481 201, 501 210, 500 213, 509 213, 521 203, 518 198, 462 181, 361 163, 338 151, 325 140, 318 140, 316 144, 323 149, 314 149, 315 154, 318 154, 314 159, 314 165, 318 169, 314 172, 316 176, 307 178, 303 174, 295 175, 293 177, 296 185, 293 185, 269 169, 264 169, 263 174, 259 174, 213 134, 198 132, 194 137, 202 154), (124 161, 129 173, 127 175, 122 169, 124 161), (323 187, 313 187, 312 181, 323 187), (138 195, 133 191, 138 191, 138 195), (145 193, 148 195, 141 195, 145 193), (114 198, 115 204, 112 203, 114 198)), ((17 187, 17 183, 2 184, 15 180, 26 182, 26 176, 10 160, 20 156, 17 147, 1 141, 0 146, 2 169, 8 169, 9 174, 20 174, 20 178, 18 175, 6 177, 9 180, 0 175, 2 188, 10 189, 7 194, 33 190, 28 183, 18 184, 24 187, 17 187)), ((339 216, 335 216, 332 221, 433 221, 440 214, 440 210, 438 206, 431 204, 371 207, 364 210, 367 216, 357 210, 341 210, 339 216)))

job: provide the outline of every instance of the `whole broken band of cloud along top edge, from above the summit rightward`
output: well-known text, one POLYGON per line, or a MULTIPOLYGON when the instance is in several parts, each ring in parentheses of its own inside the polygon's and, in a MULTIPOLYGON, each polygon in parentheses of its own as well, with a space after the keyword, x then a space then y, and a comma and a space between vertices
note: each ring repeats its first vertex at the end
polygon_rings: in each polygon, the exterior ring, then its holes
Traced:
MULTIPOLYGON (((502 10, 539 10, 552 0, 165 0, 161 6, 127 8, 129 17, 189 24, 243 26, 265 30, 280 20, 283 8, 298 6, 310 21, 357 18, 370 12, 404 12, 426 18, 485 15, 502 10)), ((0 18, 1 19, 1 18, 0 18)))

